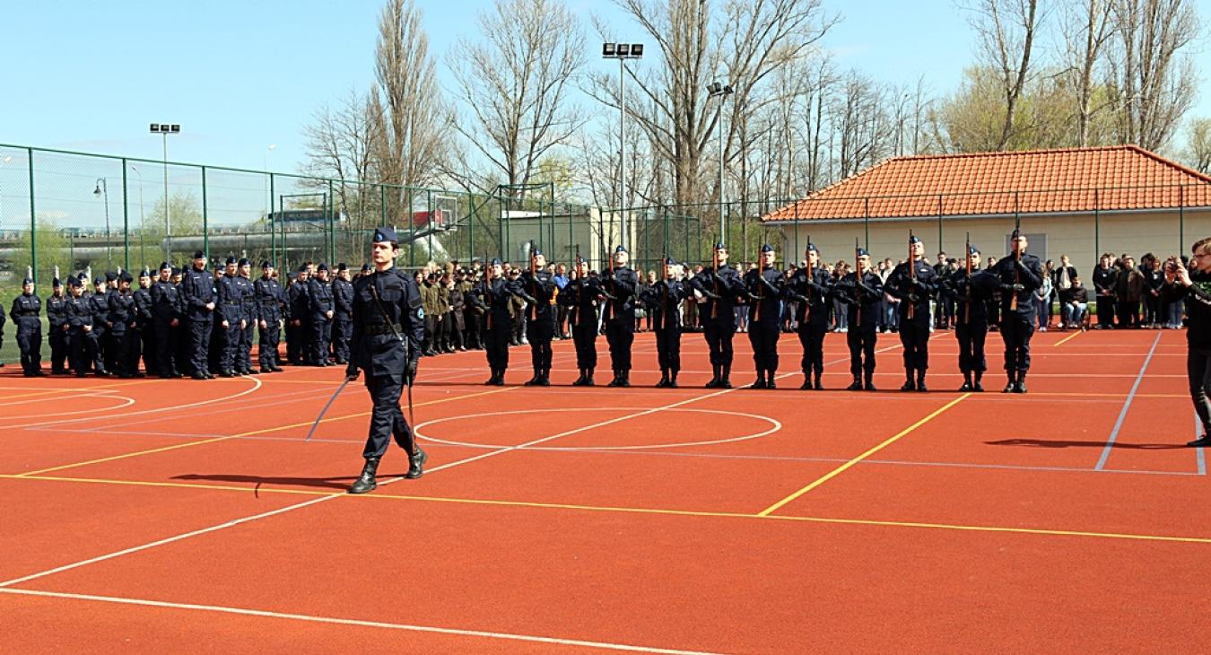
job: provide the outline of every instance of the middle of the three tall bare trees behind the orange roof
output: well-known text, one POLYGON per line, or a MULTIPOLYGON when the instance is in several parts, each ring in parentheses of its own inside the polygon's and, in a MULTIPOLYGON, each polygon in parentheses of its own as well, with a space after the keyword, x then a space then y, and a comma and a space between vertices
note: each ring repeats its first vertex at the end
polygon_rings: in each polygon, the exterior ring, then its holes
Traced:
POLYGON ((1090 122, 1104 107, 1094 107, 1097 67, 1115 30, 1114 0, 1068 0, 1061 11, 1064 41, 1063 76, 1075 96, 1077 145, 1089 145, 1090 122))

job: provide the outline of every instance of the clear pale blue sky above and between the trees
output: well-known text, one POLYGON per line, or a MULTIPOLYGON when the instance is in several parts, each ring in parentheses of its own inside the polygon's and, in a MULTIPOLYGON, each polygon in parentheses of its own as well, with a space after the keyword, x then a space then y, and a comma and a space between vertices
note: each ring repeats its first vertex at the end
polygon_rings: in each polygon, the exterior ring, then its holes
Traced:
MULTIPOLYGON (((581 16, 610 18, 618 40, 642 40, 608 2, 572 5, 581 16)), ((949 1, 825 5, 844 13, 825 44, 843 68, 894 82, 925 75, 935 92, 948 92, 971 61, 970 30, 949 1)), ((470 17, 492 5, 418 6, 434 51, 443 53, 459 35, 474 35, 470 17)), ((292 172, 312 113, 373 80, 379 7, 379 0, 7 0, 0 142, 159 159, 148 123, 168 121, 183 126, 170 137, 174 161, 260 170, 272 143, 270 167, 292 172)), ((1201 8, 1211 19, 1211 7, 1201 8)), ((609 65, 589 35, 590 65, 609 65)), ((441 76, 449 79, 444 69, 441 76)), ((1211 115, 1211 92, 1192 114, 1211 115)))

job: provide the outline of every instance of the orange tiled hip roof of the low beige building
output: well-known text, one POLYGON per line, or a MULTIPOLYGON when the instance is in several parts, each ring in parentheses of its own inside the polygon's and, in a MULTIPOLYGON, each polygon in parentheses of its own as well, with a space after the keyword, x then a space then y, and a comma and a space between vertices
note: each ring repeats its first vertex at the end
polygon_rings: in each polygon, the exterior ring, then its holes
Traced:
POLYGON ((762 217, 830 220, 1211 206, 1211 177, 1136 145, 895 157, 762 217))

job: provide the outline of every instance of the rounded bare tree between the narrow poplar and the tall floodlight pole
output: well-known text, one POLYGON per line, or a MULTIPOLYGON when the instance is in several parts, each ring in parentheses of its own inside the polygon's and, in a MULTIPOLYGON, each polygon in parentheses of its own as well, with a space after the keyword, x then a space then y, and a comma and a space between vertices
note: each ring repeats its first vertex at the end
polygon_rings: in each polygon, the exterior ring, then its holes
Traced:
POLYGON ((585 122, 568 98, 584 35, 559 0, 497 0, 478 25, 448 59, 471 119, 457 130, 490 162, 488 177, 527 184, 539 160, 585 122))

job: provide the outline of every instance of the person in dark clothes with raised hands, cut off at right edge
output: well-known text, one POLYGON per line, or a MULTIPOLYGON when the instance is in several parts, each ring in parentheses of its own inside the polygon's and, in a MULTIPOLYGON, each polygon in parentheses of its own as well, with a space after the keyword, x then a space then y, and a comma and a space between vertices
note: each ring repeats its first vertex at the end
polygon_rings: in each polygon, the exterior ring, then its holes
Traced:
POLYGON ((1187 446, 1211 444, 1211 237, 1190 247, 1190 270, 1177 258, 1165 263, 1163 293, 1169 301, 1186 299, 1189 327, 1186 332, 1186 374, 1190 383, 1190 400, 1203 421, 1203 436, 1187 446))

